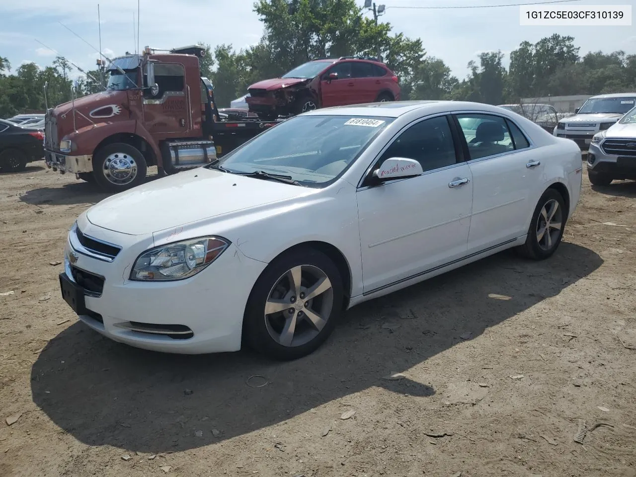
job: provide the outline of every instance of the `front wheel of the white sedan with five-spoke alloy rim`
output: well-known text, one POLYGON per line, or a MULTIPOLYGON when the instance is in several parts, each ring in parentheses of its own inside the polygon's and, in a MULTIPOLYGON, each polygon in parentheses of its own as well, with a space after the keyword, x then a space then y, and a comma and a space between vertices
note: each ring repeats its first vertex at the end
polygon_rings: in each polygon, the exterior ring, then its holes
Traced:
POLYGON ((256 280, 244 315, 244 337, 275 359, 307 356, 331 335, 343 311, 338 268, 326 254, 298 248, 275 259, 256 280))

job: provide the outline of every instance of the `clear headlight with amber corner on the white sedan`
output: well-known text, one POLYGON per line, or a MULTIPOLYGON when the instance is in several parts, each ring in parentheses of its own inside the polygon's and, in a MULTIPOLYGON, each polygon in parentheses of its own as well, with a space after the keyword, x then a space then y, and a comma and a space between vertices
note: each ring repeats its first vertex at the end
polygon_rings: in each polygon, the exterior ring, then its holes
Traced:
POLYGON ((143 252, 132 267, 130 280, 183 280, 196 275, 221 255, 230 242, 221 237, 201 237, 155 247, 143 252))

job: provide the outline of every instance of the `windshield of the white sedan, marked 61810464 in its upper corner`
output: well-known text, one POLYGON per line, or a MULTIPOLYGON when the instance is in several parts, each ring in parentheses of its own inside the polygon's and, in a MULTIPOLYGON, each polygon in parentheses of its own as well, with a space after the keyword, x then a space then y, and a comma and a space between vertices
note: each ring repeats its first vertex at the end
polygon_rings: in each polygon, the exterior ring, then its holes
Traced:
POLYGON ((228 172, 291 177, 319 186, 340 176, 393 121, 358 116, 296 116, 256 136, 215 165, 228 172))

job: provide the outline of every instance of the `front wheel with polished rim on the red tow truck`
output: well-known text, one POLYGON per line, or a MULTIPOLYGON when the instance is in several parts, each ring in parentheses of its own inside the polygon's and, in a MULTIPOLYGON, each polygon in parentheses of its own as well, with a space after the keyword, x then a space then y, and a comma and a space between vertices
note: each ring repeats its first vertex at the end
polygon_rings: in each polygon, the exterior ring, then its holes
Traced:
POLYGON ((110 192, 138 186, 146 177, 147 170, 144 155, 123 142, 108 144, 93 156, 95 182, 110 192))

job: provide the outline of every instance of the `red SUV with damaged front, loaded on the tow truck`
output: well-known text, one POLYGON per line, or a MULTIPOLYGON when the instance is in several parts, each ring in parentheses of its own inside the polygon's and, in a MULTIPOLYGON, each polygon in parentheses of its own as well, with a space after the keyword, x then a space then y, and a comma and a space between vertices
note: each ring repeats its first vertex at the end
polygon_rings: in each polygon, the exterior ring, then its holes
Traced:
POLYGON ((264 120, 319 107, 399 100, 397 76, 370 58, 320 58, 294 68, 282 78, 248 88, 249 111, 264 120))

